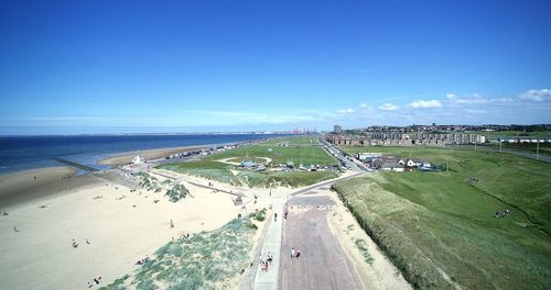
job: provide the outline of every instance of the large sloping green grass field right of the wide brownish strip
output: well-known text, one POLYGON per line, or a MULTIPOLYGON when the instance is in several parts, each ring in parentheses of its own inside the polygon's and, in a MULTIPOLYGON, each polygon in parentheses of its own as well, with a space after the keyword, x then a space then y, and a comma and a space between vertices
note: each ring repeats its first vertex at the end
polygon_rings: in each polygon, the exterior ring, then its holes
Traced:
POLYGON ((417 288, 550 285, 550 164, 473 150, 369 150, 447 160, 447 172, 378 172, 335 185, 364 228, 417 288), (469 177, 478 181, 472 183, 469 177), (494 216, 505 209, 511 214, 494 216))

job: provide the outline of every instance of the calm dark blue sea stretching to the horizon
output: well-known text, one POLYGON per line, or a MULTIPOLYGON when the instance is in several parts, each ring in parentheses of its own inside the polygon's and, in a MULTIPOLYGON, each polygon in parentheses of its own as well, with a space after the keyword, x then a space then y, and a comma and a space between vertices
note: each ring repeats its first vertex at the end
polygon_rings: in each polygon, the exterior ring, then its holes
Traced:
POLYGON ((226 144, 272 137, 268 134, 228 135, 121 135, 121 136, 13 136, 0 137, 0 175, 50 166, 62 166, 63 157, 98 169, 96 163, 125 152, 226 144))

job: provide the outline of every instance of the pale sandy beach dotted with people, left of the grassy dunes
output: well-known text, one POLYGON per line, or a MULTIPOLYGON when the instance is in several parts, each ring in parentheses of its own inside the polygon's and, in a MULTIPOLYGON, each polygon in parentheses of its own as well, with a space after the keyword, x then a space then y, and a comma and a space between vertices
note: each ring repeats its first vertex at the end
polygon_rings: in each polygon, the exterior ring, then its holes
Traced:
POLYGON ((172 203, 163 193, 131 192, 101 176, 60 181, 69 169, 44 170, 33 186, 21 182, 34 182, 34 172, 1 177, 0 211, 9 213, 0 215, 3 289, 88 289, 99 276, 106 286, 145 255, 154 258, 172 237, 218 228, 241 212, 233 196, 190 183, 184 185, 194 198, 172 203))

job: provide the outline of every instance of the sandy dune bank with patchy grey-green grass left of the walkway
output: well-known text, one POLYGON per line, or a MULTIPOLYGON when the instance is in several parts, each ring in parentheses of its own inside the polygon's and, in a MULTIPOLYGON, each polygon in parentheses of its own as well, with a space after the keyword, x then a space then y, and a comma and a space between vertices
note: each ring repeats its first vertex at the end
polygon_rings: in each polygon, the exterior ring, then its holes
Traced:
POLYGON ((105 290, 230 289, 253 261, 252 237, 263 212, 236 219, 222 228, 166 244, 138 270, 105 290))

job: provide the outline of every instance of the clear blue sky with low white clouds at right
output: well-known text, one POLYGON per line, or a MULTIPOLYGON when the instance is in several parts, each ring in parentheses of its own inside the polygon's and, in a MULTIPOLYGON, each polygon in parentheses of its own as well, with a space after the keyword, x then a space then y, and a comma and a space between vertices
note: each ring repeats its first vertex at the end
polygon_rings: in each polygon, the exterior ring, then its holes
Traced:
POLYGON ((550 1, 2 1, 0 134, 550 123, 550 1))

